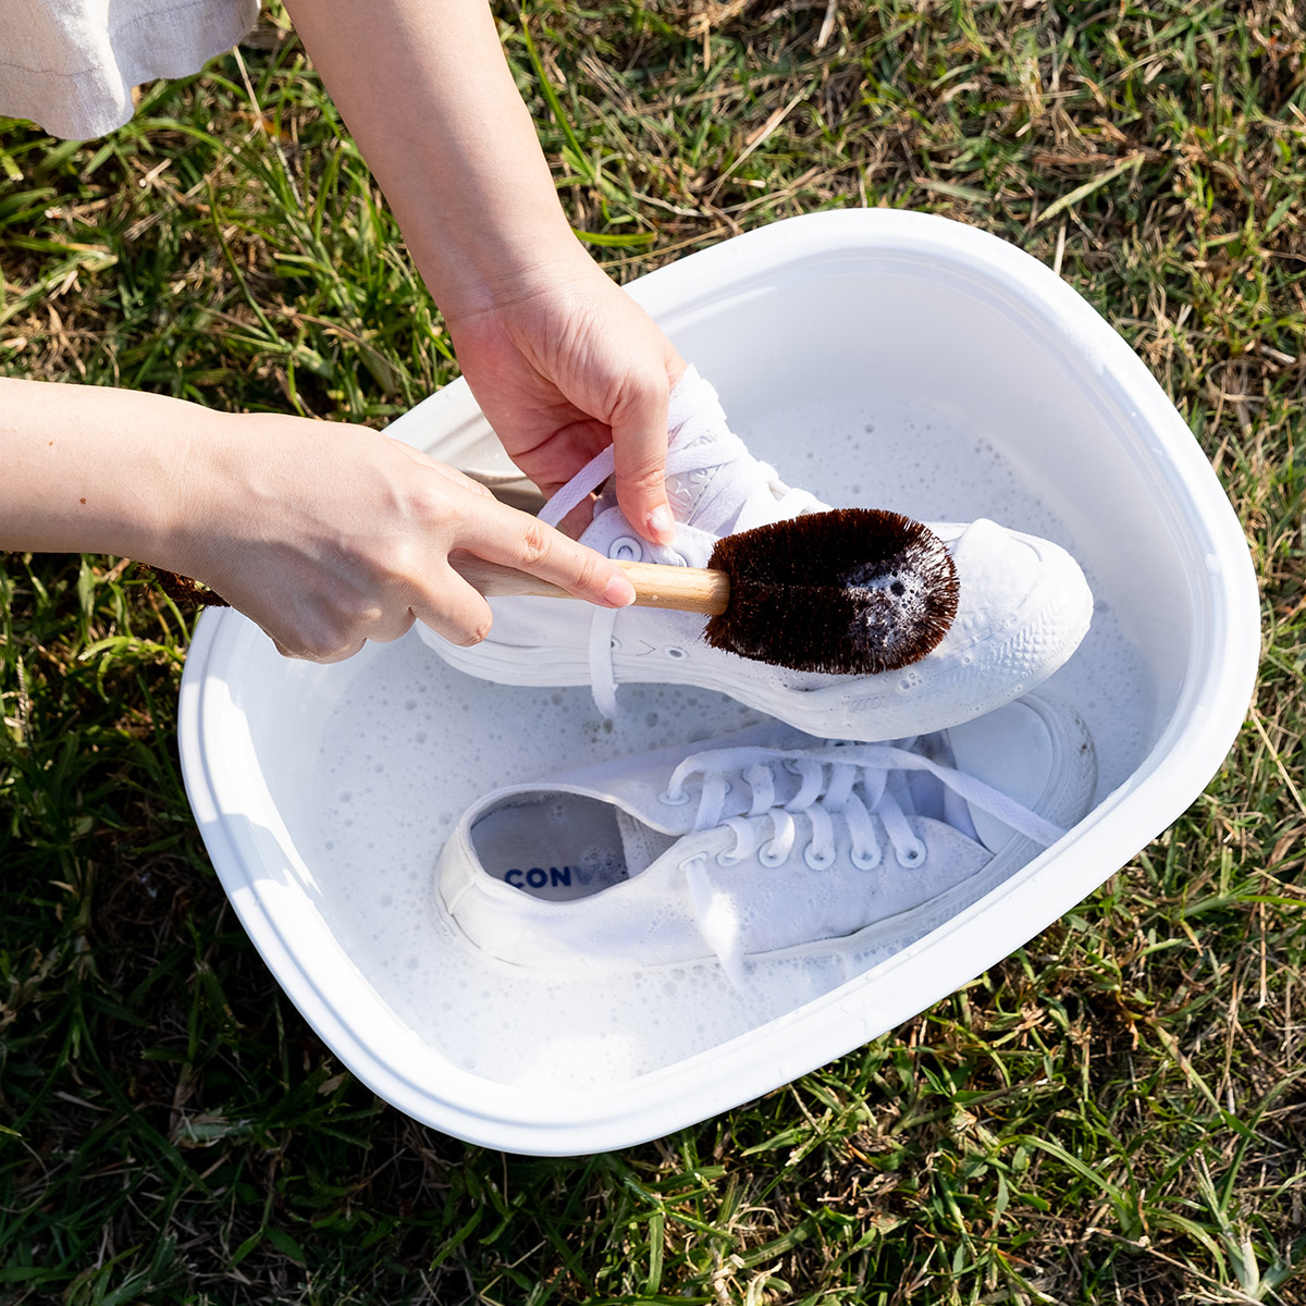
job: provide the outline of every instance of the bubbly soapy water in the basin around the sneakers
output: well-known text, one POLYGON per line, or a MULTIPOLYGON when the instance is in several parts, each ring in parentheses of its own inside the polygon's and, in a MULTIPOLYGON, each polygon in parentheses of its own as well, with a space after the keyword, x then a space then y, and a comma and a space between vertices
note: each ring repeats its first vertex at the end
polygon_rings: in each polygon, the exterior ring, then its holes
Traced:
MULTIPOLYGON (((784 479, 836 507, 892 508, 925 521, 987 516, 1076 552, 1057 515, 995 448, 918 405, 863 400, 841 411, 814 401, 739 434, 784 479), (804 432, 801 448, 795 431, 804 432), (964 479, 940 478, 940 468, 959 466, 964 479)), ((1141 760, 1164 705, 1147 701, 1111 596, 1085 573, 1097 598, 1092 629, 1046 688, 1087 721, 1102 798, 1141 760)), ((565 1092, 635 1079, 794 1011, 914 942, 904 935, 857 955, 752 963, 743 991, 714 961, 554 976, 478 952, 434 892, 436 855, 474 799, 763 720, 722 695, 674 686, 622 686, 618 708, 607 724, 584 688, 477 680, 410 635, 364 663, 316 741, 316 824, 291 829, 315 905, 396 1016, 486 1080, 565 1092)), ((863 1037, 858 1028, 850 1046, 863 1037)))

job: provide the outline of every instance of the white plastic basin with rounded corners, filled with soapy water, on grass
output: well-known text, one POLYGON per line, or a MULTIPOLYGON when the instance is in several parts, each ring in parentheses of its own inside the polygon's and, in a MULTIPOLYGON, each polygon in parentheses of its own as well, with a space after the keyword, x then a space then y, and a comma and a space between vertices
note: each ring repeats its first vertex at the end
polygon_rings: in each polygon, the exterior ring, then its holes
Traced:
MULTIPOLYGON (((854 965, 714 965, 559 981, 488 961, 434 908, 452 821, 487 789, 731 729, 714 695, 505 690, 415 637, 289 662, 209 611, 180 750, 223 887, 277 980, 350 1070, 474 1143, 567 1155, 704 1119, 893 1028, 1007 956, 1198 795, 1243 718, 1258 603, 1239 525, 1123 341, 1006 243, 942 218, 795 218, 683 259, 632 294, 786 481, 923 520, 1049 535, 1097 597, 1051 688, 1093 730, 1092 812, 989 897, 854 965)), ((466 388, 392 434, 507 469, 466 388)))

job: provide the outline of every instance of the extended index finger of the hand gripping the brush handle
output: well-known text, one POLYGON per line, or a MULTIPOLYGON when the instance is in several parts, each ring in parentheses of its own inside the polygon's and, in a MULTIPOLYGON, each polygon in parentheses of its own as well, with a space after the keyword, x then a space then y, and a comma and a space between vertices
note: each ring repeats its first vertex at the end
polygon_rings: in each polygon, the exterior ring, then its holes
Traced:
POLYGON ((611 559, 505 504, 475 507, 461 522, 458 549, 529 572, 599 607, 635 602, 631 582, 611 559))

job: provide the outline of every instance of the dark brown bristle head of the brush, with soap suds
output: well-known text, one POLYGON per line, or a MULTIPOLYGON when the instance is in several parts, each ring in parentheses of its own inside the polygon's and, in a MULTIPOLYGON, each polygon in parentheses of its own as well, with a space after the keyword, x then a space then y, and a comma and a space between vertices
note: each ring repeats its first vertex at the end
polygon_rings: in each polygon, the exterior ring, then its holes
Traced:
POLYGON ((797 671, 876 675, 918 662, 957 613, 952 558, 926 526, 876 508, 836 508, 720 539, 730 606, 713 648, 797 671))

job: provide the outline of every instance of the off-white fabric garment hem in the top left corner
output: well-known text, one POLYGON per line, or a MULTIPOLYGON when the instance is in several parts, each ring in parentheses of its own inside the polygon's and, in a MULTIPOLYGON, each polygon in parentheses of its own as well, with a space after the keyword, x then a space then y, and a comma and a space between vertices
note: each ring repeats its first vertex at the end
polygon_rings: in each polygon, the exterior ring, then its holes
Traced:
POLYGON ((257 17, 259 0, 0 0, 0 116, 103 136, 133 86, 199 72, 257 17))

